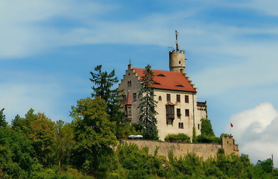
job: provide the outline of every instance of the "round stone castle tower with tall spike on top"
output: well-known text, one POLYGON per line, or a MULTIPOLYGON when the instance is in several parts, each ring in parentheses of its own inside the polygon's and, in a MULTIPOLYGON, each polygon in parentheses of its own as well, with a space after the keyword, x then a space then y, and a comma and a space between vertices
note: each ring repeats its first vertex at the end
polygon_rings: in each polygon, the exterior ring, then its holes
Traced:
POLYGON ((179 50, 179 32, 176 31, 176 50, 169 52, 169 68, 171 72, 181 72, 185 75, 186 58, 185 52, 179 50))

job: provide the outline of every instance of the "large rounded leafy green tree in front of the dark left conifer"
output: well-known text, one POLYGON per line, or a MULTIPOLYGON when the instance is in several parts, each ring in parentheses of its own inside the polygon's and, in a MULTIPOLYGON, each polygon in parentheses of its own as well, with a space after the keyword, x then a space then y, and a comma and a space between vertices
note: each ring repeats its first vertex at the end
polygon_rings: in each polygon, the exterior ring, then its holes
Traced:
POLYGON ((112 169, 111 161, 117 143, 115 123, 108 120, 106 102, 99 98, 79 100, 72 107, 74 118, 74 165, 85 173, 106 172, 112 169))

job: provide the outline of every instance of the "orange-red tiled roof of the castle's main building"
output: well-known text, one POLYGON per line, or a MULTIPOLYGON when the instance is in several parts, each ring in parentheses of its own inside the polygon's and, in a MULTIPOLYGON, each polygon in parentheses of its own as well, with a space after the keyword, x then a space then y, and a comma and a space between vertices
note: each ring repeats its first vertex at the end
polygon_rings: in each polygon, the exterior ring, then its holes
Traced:
MULTIPOLYGON (((133 68, 139 77, 142 77, 144 74, 144 70, 142 68, 133 68)), ((163 71, 163 70, 152 70, 154 72, 154 88, 158 89, 168 89, 174 91, 190 91, 195 92, 196 88, 186 77, 183 76, 180 72, 170 72, 170 71, 163 71)))

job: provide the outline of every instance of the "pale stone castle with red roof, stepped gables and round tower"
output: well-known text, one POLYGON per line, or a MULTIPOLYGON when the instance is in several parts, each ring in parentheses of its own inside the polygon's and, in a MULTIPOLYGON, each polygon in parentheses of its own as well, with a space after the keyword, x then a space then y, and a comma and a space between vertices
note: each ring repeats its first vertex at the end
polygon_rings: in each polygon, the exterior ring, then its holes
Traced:
MULTIPOLYGON (((197 102, 197 88, 186 76, 185 52, 179 49, 178 31, 176 31, 176 49, 169 52, 170 71, 152 70, 154 72, 154 100, 158 137, 164 141, 167 134, 188 134, 193 139, 193 127, 196 135, 201 134, 201 119, 206 118, 206 102, 197 102)), ((138 123, 140 111, 138 91, 140 77, 145 69, 128 65, 126 74, 119 84, 124 92, 124 116, 131 123, 138 123)))

